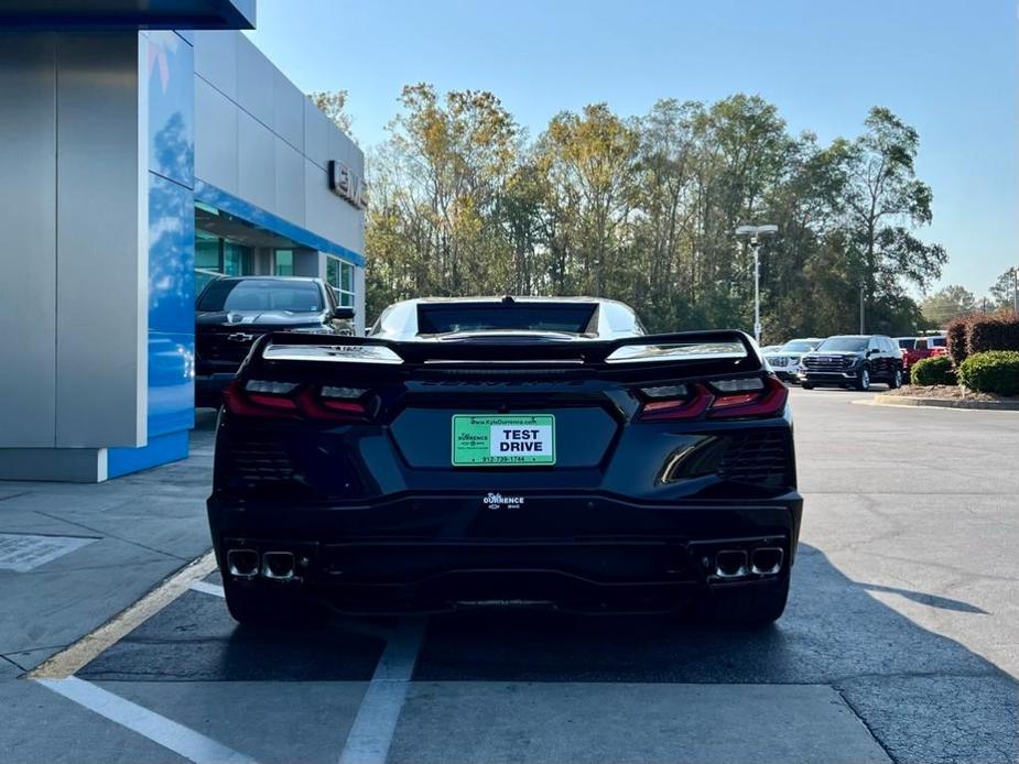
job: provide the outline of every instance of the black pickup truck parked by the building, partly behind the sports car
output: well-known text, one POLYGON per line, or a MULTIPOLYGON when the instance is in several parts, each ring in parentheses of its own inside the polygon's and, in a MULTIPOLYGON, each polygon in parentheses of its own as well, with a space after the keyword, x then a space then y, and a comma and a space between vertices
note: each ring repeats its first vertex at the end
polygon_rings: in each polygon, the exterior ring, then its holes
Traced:
POLYGON ((226 276, 195 301, 195 405, 217 407, 254 341, 269 331, 350 334, 354 308, 340 307, 321 279, 226 276))

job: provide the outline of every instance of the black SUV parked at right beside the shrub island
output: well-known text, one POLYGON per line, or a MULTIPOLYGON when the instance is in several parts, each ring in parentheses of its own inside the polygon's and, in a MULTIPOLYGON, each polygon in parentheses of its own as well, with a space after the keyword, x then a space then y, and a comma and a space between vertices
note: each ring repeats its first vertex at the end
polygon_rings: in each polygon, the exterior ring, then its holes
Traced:
POLYGON ((817 385, 869 390, 871 382, 895 389, 902 385, 902 353, 885 335, 838 335, 800 359, 798 376, 804 390, 817 385))

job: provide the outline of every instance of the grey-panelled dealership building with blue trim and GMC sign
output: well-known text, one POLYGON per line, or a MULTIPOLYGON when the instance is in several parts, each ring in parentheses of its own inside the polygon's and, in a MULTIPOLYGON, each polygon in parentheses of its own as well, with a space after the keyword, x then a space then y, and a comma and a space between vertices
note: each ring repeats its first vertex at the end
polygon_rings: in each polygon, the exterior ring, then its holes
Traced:
POLYGON ((239 31, 254 4, 0 4, 0 479, 185 457, 218 274, 319 276, 364 330, 364 154, 239 31))

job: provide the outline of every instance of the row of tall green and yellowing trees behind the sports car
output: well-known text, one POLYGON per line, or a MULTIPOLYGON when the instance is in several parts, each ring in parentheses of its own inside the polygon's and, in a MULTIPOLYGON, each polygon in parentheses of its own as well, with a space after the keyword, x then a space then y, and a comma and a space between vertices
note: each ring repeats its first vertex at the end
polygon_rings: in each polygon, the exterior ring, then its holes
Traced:
POLYGON ((887 109, 863 135, 792 135, 758 96, 564 111, 529 140, 489 92, 404 88, 370 156, 368 316, 423 294, 589 294, 652 331, 752 325, 752 258, 734 231, 774 222, 761 257, 766 340, 922 323, 909 285, 944 250, 920 241, 919 139, 887 109))

